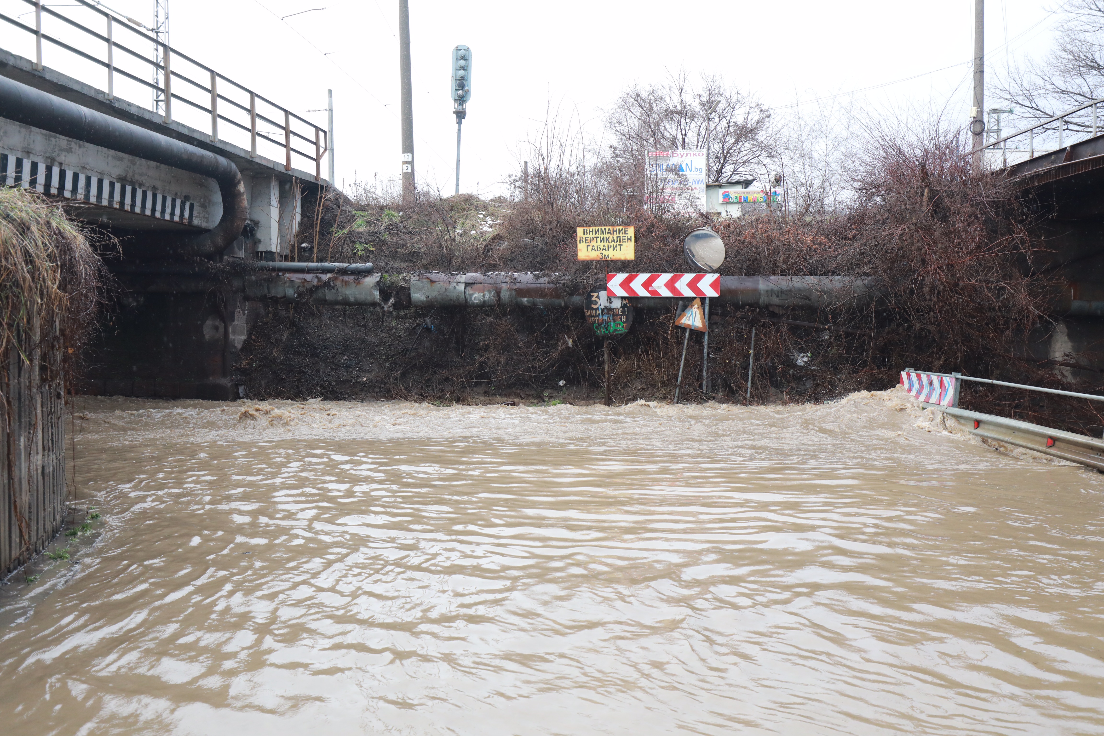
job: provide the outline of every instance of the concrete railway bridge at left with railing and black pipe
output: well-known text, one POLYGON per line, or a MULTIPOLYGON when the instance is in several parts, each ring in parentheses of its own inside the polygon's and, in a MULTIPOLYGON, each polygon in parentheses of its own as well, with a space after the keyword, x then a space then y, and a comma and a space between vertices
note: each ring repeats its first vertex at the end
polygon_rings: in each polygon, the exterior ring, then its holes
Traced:
MULTIPOLYGON (((118 238, 113 270, 279 262, 304 195, 330 185, 321 124, 98 3, 0 0, 0 185, 34 189, 118 238)), ((125 273, 120 284, 131 286, 125 273)), ((245 294, 134 286, 124 299, 141 303, 108 326, 93 387, 236 397, 245 294)))

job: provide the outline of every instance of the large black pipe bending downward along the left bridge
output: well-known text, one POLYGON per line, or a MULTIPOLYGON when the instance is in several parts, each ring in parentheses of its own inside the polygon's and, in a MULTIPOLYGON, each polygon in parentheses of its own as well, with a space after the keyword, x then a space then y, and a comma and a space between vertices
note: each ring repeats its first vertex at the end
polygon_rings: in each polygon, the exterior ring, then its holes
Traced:
POLYGON ((0 76, 0 117, 214 179, 222 195, 222 217, 219 224, 202 235, 166 234, 159 246, 140 255, 210 256, 225 250, 242 234, 242 227, 248 217, 242 173, 230 160, 217 153, 89 110, 3 76, 0 76))

